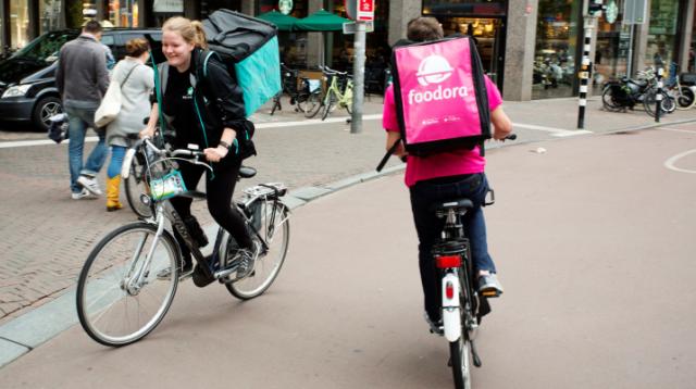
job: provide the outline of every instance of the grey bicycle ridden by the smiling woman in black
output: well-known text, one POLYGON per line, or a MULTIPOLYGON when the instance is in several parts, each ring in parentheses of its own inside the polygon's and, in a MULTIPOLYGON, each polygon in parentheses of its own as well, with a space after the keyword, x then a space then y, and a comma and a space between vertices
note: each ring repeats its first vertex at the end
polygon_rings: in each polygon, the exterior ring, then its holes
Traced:
MULTIPOLYGON (((203 153, 190 149, 160 150, 144 139, 128 150, 124 165, 133 162, 136 152, 148 167, 150 195, 142 200, 149 202, 153 216, 119 227, 101 239, 89 253, 77 281, 82 327, 95 341, 111 347, 130 344, 150 334, 171 306, 179 280, 188 277, 179 276, 182 253, 173 234, 165 228, 166 222, 181 234, 204 275, 224 284, 229 293, 241 300, 268 290, 285 262, 289 243, 289 209, 281 201, 287 188, 283 184, 262 184, 247 188, 244 197, 232 204, 244 215, 252 239, 261 244, 258 259, 252 264, 241 263, 244 260, 236 256, 236 241, 223 228, 217 230, 212 254, 204 256, 182 217, 159 191, 163 184, 170 187, 175 184, 176 179, 171 178, 176 177, 171 170, 174 161, 211 168, 200 161, 203 153), (241 268, 245 274, 239 274, 241 268)), ((251 167, 243 166, 239 171, 240 178, 254 175, 251 167)), ((204 193, 190 191, 178 196, 201 198, 204 193)))

